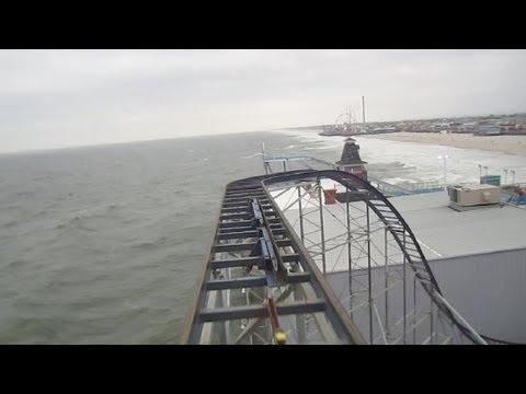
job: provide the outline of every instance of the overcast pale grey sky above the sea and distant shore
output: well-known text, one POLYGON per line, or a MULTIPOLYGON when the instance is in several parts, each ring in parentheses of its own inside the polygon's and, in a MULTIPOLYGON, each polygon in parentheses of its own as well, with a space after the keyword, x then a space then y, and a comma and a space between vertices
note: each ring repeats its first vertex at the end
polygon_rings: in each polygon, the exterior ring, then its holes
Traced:
POLYGON ((526 112, 526 50, 0 50, 0 152, 526 112))

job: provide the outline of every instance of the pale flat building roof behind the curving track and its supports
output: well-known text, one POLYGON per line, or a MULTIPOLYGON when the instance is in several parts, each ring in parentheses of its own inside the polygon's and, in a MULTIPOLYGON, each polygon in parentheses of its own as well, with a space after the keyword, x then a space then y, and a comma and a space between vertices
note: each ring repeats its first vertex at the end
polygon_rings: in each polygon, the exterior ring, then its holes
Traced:
MULTIPOLYGON (((323 185, 325 188, 332 186, 323 185)), ((283 195, 278 198, 278 205, 286 209, 286 217, 299 233, 298 206, 294 204, 297 192, 283 195), (279 204, 281 202, 281 204, 279 204)), ((502 207, 478 208, 468 211, 456 211, 448 207, 449 196, 446 192, 424 193, 410 196, 392 197, 391 204, 402 215, 416 236, 423 253, 427 259, 469 255, 510 248, 526 247, 526 208, 504 205, 502 207)), ((316 202, 316 199, 312 200, 316 202)), ((363 202, 351 204, 353 209, 364 209, 363 202)), ((305 233, 310 239, 307 245, 319 242, 319 234, 312 233, 316 228, 310 220, 318 221, 318 208, 313 204, 304 201, 304 215, 306 216, 305 233), (313 217, 312 217, 313 216, 313 217)), ((324 213, 324 235, 328 241, 327 254, 328 271, 347 269, 345 253, 341 248, 332 250, 331 245, 345 242, 339 236, 345 231, 345 208, 339 204, 328 206, 332 212, 324 213)), ((354 210, 359 216, 359 212, 354 210)), ((374 215, 373 215, 374 216, 374 215)), ((376 217, 371 217, 371 242, 377 247, 382 247, 384 232, 378 231, 376 217), (376 230, 375 230, 376 229, 376 230)), ((365 218, 357 220, 365 225, 365 218)), ((356 222, 356 221, 355 221, 356 222)), ((381 253, 377 247, 371 250, 376 263, 381 263, 381 253)), ((362 255, 356 262, 357 266, 366 264, 365 255, 353 252, 355 256, 362 255)), ((391 253, 391 252, 390 252, 391 253)), ((318 262, 317 262, 318 263, 318 262)))

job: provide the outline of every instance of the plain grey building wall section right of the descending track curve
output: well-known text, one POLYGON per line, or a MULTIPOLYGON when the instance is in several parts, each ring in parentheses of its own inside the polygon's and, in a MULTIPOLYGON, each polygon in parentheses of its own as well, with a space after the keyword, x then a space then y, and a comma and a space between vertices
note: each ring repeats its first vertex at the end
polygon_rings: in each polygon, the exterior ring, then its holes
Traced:
POLYGON ((479 333, 526 343, 526 248, 430 264, 445 298, 479 333))

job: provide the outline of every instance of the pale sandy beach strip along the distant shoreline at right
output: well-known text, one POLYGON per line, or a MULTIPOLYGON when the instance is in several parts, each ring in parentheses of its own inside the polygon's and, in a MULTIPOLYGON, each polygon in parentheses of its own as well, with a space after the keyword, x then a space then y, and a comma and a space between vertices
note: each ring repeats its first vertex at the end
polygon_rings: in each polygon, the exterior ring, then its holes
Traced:
POLYGON ((479 137, 461 134, 393 132, 362 137, 401 142, 431 143, 466 149, 481 149, 494 152, 526 155, 526 136, 479 137))

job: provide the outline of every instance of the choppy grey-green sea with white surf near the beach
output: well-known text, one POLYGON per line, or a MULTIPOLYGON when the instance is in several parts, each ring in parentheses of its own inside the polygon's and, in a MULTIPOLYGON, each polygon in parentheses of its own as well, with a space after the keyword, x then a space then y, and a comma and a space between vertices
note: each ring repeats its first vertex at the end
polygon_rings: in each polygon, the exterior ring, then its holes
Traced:
MULTIPOLYGON (((268 152, 339 159, 344 138, 250 132, 0 155, 0 343, 176 344, 226 184, 268 152)), ((526 181, 526 157, 358 138, 371 175, 526 181)))

